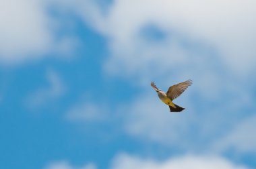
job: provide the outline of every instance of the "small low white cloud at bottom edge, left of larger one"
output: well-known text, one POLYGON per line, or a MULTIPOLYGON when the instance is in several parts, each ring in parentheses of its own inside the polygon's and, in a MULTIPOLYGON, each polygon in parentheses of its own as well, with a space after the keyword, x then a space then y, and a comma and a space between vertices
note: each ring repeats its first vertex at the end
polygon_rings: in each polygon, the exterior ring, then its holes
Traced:
POLYGON ((62 162, 55 162, 53 164, 49 164, 46 166, 45 169, 96 169, 94 164, 86 164, 82 167, 71 166, 69 162, 62 161, 62 162))

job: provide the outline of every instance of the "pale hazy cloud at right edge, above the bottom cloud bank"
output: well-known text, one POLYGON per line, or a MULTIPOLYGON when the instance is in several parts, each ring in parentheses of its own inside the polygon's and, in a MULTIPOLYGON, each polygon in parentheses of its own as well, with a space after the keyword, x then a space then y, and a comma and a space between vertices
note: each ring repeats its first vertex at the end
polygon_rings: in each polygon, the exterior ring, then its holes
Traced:
POLYGON ((238 121, 233 129, 214 144, 214 150, 224 152, 231 149, 235 152, 256 154, 256 115, 238 121))

